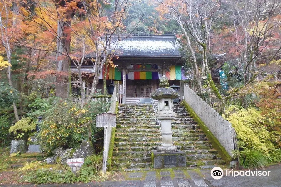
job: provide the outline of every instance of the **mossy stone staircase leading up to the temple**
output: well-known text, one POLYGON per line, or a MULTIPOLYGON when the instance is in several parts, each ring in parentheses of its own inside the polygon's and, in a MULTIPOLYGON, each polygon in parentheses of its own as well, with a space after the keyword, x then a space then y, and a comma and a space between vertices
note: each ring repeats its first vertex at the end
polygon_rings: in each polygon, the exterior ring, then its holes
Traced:
MULTIPOLYGON (((176 104, 174 111, 173 143, 186 152, 187 166, 224 164, 185 108, 176 104)), ((151 105, 118 106, 112 169, 151 168, 151 150, 159 145, 161 133, 151 105)))

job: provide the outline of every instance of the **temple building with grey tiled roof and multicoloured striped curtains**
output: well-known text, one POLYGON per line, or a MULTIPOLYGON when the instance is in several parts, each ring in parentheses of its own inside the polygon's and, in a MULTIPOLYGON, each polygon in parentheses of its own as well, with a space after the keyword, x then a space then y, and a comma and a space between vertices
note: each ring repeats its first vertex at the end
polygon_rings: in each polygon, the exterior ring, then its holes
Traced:
MULTIPOLYGON (((116 67, 103 69, 97 90, 103 93, 103 79, 106 73, 106 85, 114 80, 124 85, 123 100, 130 98, 149 98, 149 94, 159 86, 159 78, 165 74, 170 85, 180 85, 185 80, 183 55, 175 35, 134 35, 117 43, 112 59, 116 67)), ((91 56, 89 56, 91 57, 91 56)), ((75 71, 75 66, 71 66, 75 71)), ((82 65, 82 73, 91 73, 92 65, 82 65)), ((85 86, 91 88, 91 77, 85 79, 85 86)), ((75 90, 74 90, 75 91, 75 90)), ((88 91, 87 91, 88 94, 88 91)), ((123 101, 125 103, 125 101, 123 101)))

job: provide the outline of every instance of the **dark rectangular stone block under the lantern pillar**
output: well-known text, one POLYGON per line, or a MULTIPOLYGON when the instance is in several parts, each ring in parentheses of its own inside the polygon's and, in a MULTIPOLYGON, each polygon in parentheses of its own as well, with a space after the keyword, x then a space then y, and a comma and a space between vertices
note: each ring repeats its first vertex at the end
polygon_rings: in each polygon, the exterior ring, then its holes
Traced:
POLYGON ((186 167, 186 156, 185 152, 183 151, 162 153, 152 150, 152 153, 154 169, 186 167))

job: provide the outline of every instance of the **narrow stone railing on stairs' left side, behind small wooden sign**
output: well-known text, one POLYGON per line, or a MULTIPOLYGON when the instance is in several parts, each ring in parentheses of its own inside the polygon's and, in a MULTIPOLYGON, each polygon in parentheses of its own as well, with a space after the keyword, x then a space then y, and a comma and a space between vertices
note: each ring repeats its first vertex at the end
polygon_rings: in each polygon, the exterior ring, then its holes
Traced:
MULTIPOLYGON (((110 105, 109 110, 108 110, 108 112, 114 113, 114 114, 117 113, 116 108, 118 106, 118 103, 117 103, 118 102, 118 89, 119 89, 118 81, 114 81, 114 91, 113 91, 113 94, 112 94, 112 97, 111 97, 111 105, 110 105)), ((106 168, 107 160, 111 159, 111 156, 112 156, 112 155, 110 155, 110 158, 108 158, 109 152, 113 151, 113 150, 110 150, 111 139, 113 139, 113 143, 114 143, 114 134, 112 133, 113 128, 115 128, 115 127, 104 128, 104 141, 103 141, 104 151, 103 151, 103 162, 102 162, 103 173, 105 173, 106 169, 107 169, 106 168)), ((109 162, 109 163, 111 164, 111 162, 109 162)))

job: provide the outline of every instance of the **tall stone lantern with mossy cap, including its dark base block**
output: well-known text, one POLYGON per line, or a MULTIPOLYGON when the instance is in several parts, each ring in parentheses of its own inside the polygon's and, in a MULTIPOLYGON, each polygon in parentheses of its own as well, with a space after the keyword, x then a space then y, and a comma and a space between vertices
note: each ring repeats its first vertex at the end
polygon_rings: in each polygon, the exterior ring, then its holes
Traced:
POLYGON ((178 93, 169 87, 168 78, 160 78, 160 88, 150 93, 150 97, 158 100, 156 118, 161 120, 162 144, 153 150, 154 168, 185 167, 185 152, 179 151, 172 143, 172 120, 176 113, 173 111, 173 99, 178 98, 178 93))

